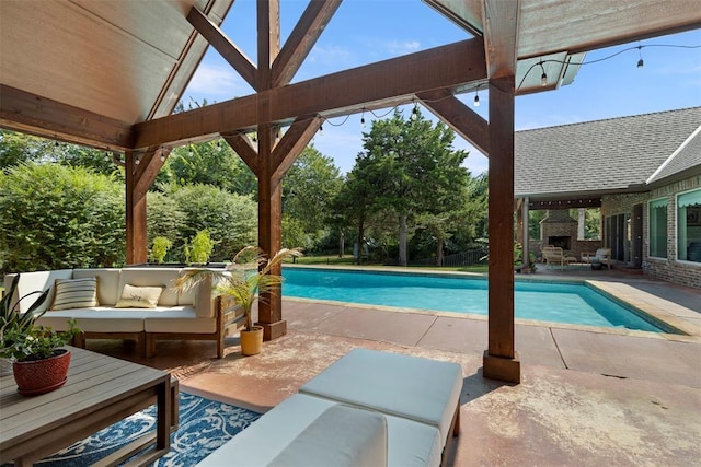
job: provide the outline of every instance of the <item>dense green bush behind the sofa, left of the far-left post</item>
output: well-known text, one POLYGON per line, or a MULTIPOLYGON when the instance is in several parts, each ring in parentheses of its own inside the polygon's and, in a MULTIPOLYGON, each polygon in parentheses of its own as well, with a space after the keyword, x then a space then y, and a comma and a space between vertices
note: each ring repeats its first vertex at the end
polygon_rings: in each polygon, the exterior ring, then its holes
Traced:
POLYGON ((0 258, 5 270, 124 261, 124 187, 82 167, 22 164, 0 173, 0 258))

